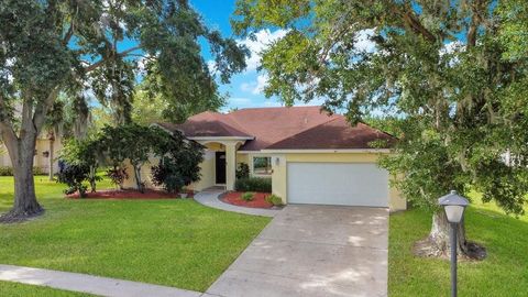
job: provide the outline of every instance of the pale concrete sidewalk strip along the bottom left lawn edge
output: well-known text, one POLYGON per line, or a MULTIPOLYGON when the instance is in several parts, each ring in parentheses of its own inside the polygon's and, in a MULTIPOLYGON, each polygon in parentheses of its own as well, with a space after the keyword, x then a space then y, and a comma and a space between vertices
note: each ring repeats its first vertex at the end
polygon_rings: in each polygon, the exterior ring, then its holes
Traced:
POLYGON ((88 274, 0 264, 0 280, 111 297, 206 297, 206 293, 88 274))

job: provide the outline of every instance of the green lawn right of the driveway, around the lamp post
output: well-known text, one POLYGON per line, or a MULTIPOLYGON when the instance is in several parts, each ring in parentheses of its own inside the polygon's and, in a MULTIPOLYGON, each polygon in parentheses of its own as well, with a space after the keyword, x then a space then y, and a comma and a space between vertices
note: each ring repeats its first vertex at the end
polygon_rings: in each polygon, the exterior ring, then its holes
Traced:
MULTIPOLYGON (((459 263, 459 296, 528 296, 528 216, 505 216, 493 204, 473 199, 466 210, 468 239, 487 249, 482 262, 459 263)), ((391 296, 449 296, 449 261, 420 258, 413 243, 427 237, 431 216, 408 210, 391 216, 391 296)))

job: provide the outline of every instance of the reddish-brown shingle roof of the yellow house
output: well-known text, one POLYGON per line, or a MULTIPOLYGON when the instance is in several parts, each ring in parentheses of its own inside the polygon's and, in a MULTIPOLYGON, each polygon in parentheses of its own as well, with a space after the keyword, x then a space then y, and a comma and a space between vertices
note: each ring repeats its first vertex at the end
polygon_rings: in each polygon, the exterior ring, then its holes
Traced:
POLYGON ((321 112, 320 107, 251 108, 228 114, 202 112, 183 124, 160 123, 168 130, 180 130, 188 138, 254 138, 241 151, 264 148, 370 148, 369 142, 394 138, 360 123, 351 127, 339 114, 321 112))

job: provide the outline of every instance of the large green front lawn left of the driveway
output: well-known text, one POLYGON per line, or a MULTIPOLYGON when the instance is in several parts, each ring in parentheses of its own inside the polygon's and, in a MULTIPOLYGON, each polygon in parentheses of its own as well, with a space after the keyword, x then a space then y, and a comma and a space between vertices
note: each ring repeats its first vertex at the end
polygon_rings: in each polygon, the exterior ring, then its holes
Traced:
MULTIPOLYGON (((35 179, 46 212, 0 226, 0 263, 204 292, 270 222, 193 200, 64 199, 64 185, 35 179)), ((0 211, 12 190, 0 177, 0 211)))

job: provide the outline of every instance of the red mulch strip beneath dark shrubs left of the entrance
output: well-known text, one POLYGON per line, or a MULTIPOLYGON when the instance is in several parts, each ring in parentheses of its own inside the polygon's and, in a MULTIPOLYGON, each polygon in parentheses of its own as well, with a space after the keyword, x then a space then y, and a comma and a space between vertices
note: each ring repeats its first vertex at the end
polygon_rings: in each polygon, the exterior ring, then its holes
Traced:
MULTIPOLYGON (((191 194, 187 197, 193 197, 191 194)), ((72 195, 66 195, 66 198, 79 199, 79 194, 75 193, 72 195)), ((88 191, 86 197, 82 199, 176 199, 179 198, 179 194, 169 194, 163 190, 153 190, 146 189, 145 193, 140 193, 138 190, 125 189, 125 190, 98 190, 96 193, 88 191)))

